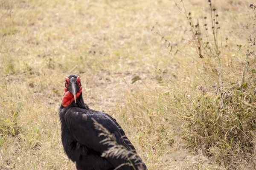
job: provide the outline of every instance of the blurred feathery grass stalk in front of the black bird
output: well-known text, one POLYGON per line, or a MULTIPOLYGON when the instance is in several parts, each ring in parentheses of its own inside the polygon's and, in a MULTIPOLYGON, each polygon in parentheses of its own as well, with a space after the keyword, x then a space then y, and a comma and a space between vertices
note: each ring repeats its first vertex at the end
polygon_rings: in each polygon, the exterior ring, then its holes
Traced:
MULTIPOLYGON (((114 134, 111 133, 110 131, 108 131, 105 127, 103 127, 95 119, 93 119, 93 122, 94 122, 95 128, 101 132, 101 133, 99 133, 99 137, 105 136, 105 139, 102 140, 101 143, 109 146, 109 149, 105 150, 102 153, 102 157, 105 157, 105 158, 111 157, 111 158, 116 158, 116 159, 121 158, 121 159, 125 159, 126 161, 128 161, 127 163, 120 164, 118 167, 115 168, 115 170, 117 170, 119 168, 122 169, 122 166, 124 166, 124 165, 129 165, 129 166, 133 167, 134 170, 136 170, 137 168, 139 170, 143 169, 143 165, 142 165, 143 161, 141 160, 140 156, 137 153, 134 153, 133 150, 128 150, 123 145, 118 144, 114 134), (137 163, 133 164, 133 162, 137 162, 137 163)), ((128 140, 126 138, 126 136, 122 136, 122 139, 128 140)))

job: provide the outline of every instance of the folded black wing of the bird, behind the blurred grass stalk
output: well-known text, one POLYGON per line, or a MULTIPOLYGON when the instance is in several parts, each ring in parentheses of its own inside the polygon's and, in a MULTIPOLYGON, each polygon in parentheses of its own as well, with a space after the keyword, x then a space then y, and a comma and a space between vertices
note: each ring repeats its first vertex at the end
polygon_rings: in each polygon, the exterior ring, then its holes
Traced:
MULTIPOLYGON (((106 136, 99 136, 102 131, 95 128, 93 119, 95 119, 99 124, 105 127, 109 132, 111 132, 111 134, 114 134, 114 137, 116 138, 116 142, 118 144, 126 147, 128 150, 131 150, 131 142, 127 139, 127 137, 126 139, 125 137, 122 137, 123 130, 121 132, 121 127, 119 125, 116 125, 116 121, 114 121, 114 119, 110 117, 111 116, 108 116, 107 114, 102 112, 85 110, 82 108, 70 108, 65 113, 65 122, 68 129, 70 130, 70 133, 78 142, 88 148, 96 150, 99 153, 103 153, 113 145, 109 145, 106 143, 106 141, 108 141, 106 136)), ((118 155, 118 153, 116 154, 118 155)), ((127 156, 131 156, 131 154, 128 153, 127 156)), ((109 155, 106 157, 106 159, 108 159, 108 161, 114 167, 118 167, 120 164, 128 163, 126 158, 122 158, 120 156, 116 157, 109 155)), ((134 165, 141 162, 137 159, 132 159, 131 161, 134 165)), ((134 168, 131 166, 122 166, 121 169, 133 170, 134 168)))

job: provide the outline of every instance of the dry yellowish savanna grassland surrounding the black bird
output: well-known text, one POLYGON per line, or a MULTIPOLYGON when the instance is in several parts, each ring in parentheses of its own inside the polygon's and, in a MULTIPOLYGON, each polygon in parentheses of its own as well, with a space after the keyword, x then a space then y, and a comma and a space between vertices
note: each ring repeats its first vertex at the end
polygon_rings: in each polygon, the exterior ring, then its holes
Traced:
POLYGON ((148 169, 254 169, 249 6, 0 0, 0 169, 76 169, 58 119, 72 73, 85 102, 117 119, 148 169))

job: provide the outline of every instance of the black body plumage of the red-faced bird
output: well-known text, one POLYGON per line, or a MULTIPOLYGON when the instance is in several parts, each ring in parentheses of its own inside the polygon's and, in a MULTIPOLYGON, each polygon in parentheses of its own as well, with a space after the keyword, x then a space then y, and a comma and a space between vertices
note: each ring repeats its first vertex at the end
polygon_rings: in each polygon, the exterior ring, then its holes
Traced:
MULTIPOLYGON (((69 78, 71 77, 77 78, 78 76, 72 74, 69 78)), ((76 103, 72 102, 66 108, 61 105, 59 117, 64 151, 69 159, 76 162, 78 170, 114 170, 121 164, 129 163, 124 158, 103 158, 101 156, 111 146, 101 142, 107 137, 99 136, 102 132, 95 128, 93 119, 114 134, 118 144, 136 153, 134 146, 125 136, 125 132, 116 120, 107 113, 89 109, 88 105, 84 104, 82 94, 78 97, 76 103)), ((132 161, 134 166, 141 164, 143 170, 147 169, 140 159, 131 159, 130 161, 132 161)), ((135 166, 135 169, 138 170, 138 167, 135 166)), ((124 165, 119 170, 134 170, 134 168, 124 165)))

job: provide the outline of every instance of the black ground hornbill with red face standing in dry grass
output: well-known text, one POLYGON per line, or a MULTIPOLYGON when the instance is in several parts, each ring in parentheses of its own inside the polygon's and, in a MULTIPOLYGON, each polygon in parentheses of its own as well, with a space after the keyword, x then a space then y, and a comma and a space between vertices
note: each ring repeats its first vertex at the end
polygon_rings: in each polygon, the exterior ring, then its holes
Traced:
POLYGON ((64 90, 61 140, 78 170, 147 169, 116 120, 84 103, 79 76, 67 76, 64 90))

